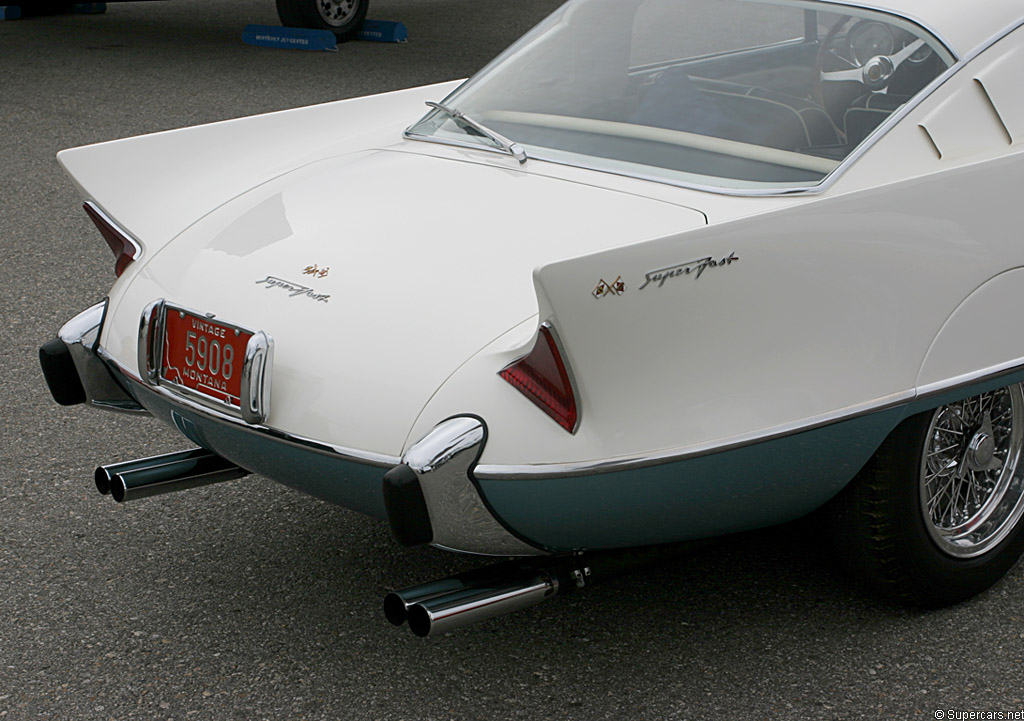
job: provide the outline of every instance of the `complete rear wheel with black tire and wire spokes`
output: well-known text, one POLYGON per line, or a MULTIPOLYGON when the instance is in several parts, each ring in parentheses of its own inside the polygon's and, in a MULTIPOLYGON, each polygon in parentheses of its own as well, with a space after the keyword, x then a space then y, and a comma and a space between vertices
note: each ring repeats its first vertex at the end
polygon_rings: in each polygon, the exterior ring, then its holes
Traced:
POLYGON ((903 419, 829 502, 841 562, 901 603, 981 593, 1024 553, 1022 454, 1018 383, 903 419))

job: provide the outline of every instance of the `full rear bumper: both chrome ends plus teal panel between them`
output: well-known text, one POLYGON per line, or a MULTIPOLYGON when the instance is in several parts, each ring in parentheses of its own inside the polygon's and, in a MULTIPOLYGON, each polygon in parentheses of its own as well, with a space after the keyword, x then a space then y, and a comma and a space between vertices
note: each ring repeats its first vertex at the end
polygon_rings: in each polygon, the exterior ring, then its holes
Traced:
POLYGON ((546 553, 503 525, 476 486, 473 468, 486 442, 480 419, 460 416, 438 424, 401 459, 247 423, 140 382, 104 359, 98 341, 106 305, 104 300, 79 313, 40 348, 43 374, 58 404, 152 413, 239 466, 353 510, 386 516, 403 546, 431 544, 497 556, 546 553))

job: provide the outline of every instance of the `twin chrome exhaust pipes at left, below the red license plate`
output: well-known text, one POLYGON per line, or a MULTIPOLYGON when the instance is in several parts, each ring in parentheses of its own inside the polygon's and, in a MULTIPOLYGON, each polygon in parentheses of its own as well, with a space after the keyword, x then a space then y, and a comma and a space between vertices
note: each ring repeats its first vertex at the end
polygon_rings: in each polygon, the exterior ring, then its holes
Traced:
POLYGON ((135 461, 114 463, 96 469, 99 493, 118 503, 175 491, 234 480, 249 471, 206 449, 180 451, 135 461))

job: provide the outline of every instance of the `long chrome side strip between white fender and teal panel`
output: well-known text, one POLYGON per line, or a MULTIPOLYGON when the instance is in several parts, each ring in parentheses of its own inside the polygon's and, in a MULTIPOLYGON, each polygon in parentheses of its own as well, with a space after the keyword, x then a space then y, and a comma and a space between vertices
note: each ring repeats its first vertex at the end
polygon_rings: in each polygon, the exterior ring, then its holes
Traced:
POLYGON ((822 414, 811 419, 787 423, 775 426, 764 431, 754 431, 742 435, 728 438, 724 441, 715 440, 685 449, 671 449, 655 452, 643 456, 630 456, 625 458, 581 461, 577 463, 549 463, 537 465, 503 465, 503 464, 480 464, 474 470, 476 477, 483 480, 527 480, 543 478, 565 478, 572 476, 597 475, 603 473, 614 473, 617 471, 636 470, 650 466, 660 466, 667 463, 686 461, 701 456, 710 456, 725 451, 754 446, 788 435, 796 435, 809 430, 815 430, 824 426, 833 425, 843 421, 851 421, 872 413, 888 411, 900 406, 909 405, 915 400, 927 400, 940 393, 949 392, 958 388, 968 387, 976 383, 989 380, 996 380, 1001 376, 1015 372, 1024 372, 1024 357, 1009 360, 1007 363, 990 366, 981 371, 967 373, 945 381, 929 383, 915 389, 893 393, 866 404, 851 406, 840 409, 831 413, 822 414))

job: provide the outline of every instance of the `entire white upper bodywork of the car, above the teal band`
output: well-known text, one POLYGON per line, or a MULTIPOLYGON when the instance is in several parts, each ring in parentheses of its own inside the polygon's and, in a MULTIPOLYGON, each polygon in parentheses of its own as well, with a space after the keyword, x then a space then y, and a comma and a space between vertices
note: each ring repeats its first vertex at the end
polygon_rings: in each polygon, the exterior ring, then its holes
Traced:
MULTIPOLYGON (((1010 14, 993 8, 962 39, 1010 14)), ((451 85, 66 152, 83 193, 146 247, 112 293, 102 345, 131 369, 146 303, 214 312, 276 341, 268 425, 396 455, 473 413, 495 468, 722 448, 909 399, 1024 357, 1019 334, 969 351, 940 336, 969 297, 963 317, 995 332, 989 305, 1013 293, 972 294, 1024 266, 1008 222, 1024 179, 1006 94, 1019 35, 820 195, 725 197, 401 140, 451 85), (640 290, 705 257, 736 260, 640 290), (312 264, 331 268, 308 284, 330 302, 259 285, 312 264), (625 295, 593 297, 616 277, 625 295), (497 375, 538 321, 575 374, 574 434, 497 375)))

